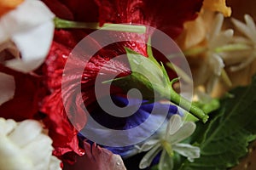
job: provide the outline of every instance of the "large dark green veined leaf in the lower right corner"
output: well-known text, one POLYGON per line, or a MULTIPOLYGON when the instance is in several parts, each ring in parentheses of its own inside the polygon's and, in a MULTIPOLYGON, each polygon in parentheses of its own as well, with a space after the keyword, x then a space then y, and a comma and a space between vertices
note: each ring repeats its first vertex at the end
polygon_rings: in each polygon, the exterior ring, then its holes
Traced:
POLYGON ((234 167, 256 139, 256 77, 250 86, 231 91, 233 98, 221 100, 218 111, 207 124, 197 123, 192 141, 201 148, 201 157, 185 161, 182 170, 224 170, 234 167))

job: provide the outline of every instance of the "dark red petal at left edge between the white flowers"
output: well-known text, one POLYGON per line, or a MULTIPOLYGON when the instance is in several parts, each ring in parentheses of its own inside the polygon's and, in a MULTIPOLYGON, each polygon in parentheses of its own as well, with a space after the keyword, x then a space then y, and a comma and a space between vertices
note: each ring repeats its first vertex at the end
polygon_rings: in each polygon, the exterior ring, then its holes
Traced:
POLYGON ((15 119, 15 121, 35 118, 46 92, 41 83, 42 77, 23 74, 1 65, 0 71, 15 77, 14 99, 0 106, 0 116, 15 119))

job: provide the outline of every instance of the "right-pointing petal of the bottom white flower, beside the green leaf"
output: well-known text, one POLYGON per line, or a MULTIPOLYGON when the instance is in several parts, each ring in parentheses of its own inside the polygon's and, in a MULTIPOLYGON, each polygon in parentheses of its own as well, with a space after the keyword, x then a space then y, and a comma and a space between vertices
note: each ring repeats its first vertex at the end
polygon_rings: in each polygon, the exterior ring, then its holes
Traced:
POLYGON ((189 161, 194 161, 200 157, 200 148, 191 144, 173 144, 172 149, 182 156, 188 157, 189 161))

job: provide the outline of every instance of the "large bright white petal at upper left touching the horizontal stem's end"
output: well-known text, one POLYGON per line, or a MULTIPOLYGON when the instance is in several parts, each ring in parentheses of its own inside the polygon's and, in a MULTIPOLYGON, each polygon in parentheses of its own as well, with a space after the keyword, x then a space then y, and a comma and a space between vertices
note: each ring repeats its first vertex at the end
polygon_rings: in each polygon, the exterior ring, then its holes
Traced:
POLYGON ((22 32, 13 36, 13 41, 20 49, 22 59, 13 59, 6 65, 16 71, 29 72, 35 70, 44 62, 49 52, 53 38, 54 24, 49 21, 31 31, 22 32))

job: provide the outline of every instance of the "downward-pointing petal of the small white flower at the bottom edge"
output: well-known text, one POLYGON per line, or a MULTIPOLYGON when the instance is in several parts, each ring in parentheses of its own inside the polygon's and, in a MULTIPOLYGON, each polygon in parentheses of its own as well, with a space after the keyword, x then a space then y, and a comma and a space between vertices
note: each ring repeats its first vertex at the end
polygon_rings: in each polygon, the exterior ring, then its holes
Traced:
POLYGON ((166 150, 163 150, 160 156, 160 161, 158 164, 159 170, 172 170, 173 169, 173 159, 168 156, 166 150))

